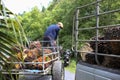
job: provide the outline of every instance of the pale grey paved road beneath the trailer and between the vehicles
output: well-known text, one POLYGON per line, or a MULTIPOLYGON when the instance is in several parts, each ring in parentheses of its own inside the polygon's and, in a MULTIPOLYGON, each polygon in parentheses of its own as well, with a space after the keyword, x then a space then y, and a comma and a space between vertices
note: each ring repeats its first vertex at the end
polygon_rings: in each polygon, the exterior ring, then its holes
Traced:
MULTIPOLYGON (((74 73, 71 73, 67 70, 65 70, 65 80, 74 80, 74 73)), ((22 76, 19 80, 52 80, 51 76, 33 76, 33 75, 27 75, 27 76, 22 76)))

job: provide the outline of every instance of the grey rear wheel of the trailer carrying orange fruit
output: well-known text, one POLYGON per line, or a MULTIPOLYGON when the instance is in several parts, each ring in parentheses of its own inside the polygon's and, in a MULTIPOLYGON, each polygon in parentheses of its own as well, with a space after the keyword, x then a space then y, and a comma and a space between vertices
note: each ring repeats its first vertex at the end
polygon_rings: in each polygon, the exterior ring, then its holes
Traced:
POLYGON ((52 80, 64 80, 64 66, 62 61, 55 61, 53 63, 52 80))

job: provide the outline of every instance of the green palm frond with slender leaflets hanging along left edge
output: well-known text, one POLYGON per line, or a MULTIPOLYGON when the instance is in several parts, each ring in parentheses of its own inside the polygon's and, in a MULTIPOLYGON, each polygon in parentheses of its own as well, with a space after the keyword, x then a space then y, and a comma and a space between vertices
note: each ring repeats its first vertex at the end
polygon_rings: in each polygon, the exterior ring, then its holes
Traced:
MULTIPOLYGON (((1 4, 0 8, 0 80, 8 80, 11 76, 11 69, 14 67, 16 52, 13 50, 15 45, 23 46, 23 41, 26 41, 23 28, 17 17, 1 4), (11 17, 13 16, 13 17, 11 17), (11 62, 11 63, 8 63, 11 62), (8 74, 3 74, 2 71, 7 71, 8 74)), ((20 17, 19 17, 20 18, 20 17)), ((13 77, 10 79, 13 80, 13 77)))

